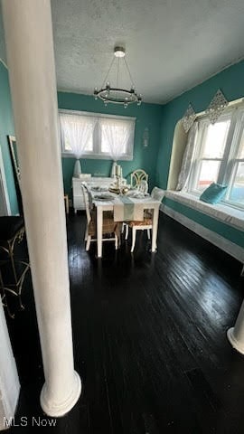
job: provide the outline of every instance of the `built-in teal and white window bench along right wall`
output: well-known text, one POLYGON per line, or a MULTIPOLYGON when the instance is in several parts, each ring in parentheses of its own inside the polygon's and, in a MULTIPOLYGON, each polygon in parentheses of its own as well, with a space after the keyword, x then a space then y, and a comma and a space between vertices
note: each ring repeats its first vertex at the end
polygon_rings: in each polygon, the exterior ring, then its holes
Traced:
POLYGON ((166 191, 161 210, 174 220, 244 262, 244 212, 211 205, 190 193, 166 191))

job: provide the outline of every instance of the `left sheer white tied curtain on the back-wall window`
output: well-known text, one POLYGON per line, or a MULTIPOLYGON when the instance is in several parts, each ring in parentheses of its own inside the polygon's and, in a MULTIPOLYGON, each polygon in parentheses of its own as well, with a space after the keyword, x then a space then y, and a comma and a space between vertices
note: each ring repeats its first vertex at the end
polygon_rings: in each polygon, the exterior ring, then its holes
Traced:
POLYGON ((96 118, 61 113, 60 120, 61 139, 69 142, 72 153, 76 157, 74 175, 80 175, 80 158, 93 134, 96 118))

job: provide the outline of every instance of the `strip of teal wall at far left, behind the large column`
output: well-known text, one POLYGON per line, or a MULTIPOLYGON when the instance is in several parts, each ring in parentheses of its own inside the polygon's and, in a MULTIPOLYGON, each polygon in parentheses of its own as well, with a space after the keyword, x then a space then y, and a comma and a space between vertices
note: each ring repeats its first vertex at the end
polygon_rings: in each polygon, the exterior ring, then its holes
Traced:
POLYGON ((18 213, 14 175, 7 143, 7 136, 14 136, 14 119, 8 81, 8 71, 0 61, 0 146, 5 165, 5 177, 12 214, 18 213))

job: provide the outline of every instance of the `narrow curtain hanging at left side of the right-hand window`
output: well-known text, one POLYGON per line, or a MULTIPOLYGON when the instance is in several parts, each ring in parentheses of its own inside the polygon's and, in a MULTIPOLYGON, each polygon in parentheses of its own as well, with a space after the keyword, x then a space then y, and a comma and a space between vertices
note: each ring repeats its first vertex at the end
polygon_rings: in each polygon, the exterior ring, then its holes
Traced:
POLYGON ((183 163, 181 167, 181 172, 178 177, 178 183, 176 186, 177 191, 181 191, 186 189, 189 177, 192 169, 192 162, 194 151, 196 147, 196 141, 198 136, 199 124, 198 122, 194 122, 192 127, 189 130, 187 143, 183 153, 183 163))

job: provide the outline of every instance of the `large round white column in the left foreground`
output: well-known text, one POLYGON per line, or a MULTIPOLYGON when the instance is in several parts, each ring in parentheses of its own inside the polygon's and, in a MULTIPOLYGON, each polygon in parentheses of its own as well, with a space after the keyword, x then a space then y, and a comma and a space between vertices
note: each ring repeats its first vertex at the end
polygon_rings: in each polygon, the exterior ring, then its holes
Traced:
MULTIPOLYGON (((23 212, 42 345, 42 409, 67 413, 74 371, 50 0, 2 0, 23 212)), ((31 399, 31 397, 30 397, 31 399)))

